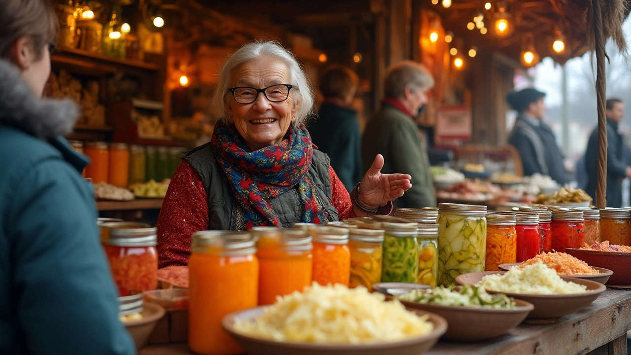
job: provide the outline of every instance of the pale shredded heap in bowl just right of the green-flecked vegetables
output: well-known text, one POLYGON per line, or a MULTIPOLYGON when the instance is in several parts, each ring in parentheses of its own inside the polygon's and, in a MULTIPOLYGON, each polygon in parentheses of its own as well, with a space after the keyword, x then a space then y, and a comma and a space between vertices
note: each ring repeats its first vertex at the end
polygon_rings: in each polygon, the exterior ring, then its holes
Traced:
POLYGON ((538 260, 524 268, 511 268, 504 275, 485 276, 478 286, 489 291, 519 294, 577 294, 586 292, 587 287, 568 282, 554 269, 538 260))

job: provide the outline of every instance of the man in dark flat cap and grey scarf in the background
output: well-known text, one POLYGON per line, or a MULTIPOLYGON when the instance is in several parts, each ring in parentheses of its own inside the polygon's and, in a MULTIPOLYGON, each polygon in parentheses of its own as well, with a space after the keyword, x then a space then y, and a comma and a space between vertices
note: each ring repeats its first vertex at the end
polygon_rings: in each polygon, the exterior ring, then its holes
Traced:
POLYGON ((534 88, 525 88, 506 96, 509 104, 519 113, 509 144, 519 152, 524 176, 538 172, 564 185, 569 182, 569 174, 563 164, 563 154, 552 129, 543 122, 545 95, 534 88))

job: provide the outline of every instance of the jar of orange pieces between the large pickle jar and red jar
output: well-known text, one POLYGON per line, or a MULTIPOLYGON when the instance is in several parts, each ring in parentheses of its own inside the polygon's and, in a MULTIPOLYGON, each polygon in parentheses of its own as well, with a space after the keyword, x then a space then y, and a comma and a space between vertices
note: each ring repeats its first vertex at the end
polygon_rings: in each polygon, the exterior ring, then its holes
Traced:
POLYGON ((516 225, 514 215, 487 214, 486 271, 498 271, 500 264, 517 262, 516 225))

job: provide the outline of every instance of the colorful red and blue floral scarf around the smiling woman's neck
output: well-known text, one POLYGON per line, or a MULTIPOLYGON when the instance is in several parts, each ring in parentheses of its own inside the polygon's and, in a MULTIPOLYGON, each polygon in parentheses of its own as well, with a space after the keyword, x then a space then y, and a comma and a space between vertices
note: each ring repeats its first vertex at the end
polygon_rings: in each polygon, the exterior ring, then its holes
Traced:
POLYGON ((304 203, 302 222, 326 221, 309 177, 313 148, 304 126, 290 126, 285 139, 250 152, 234 125, 217 123, 211 140, 215 157, 244 210, 244 229, 282 227, 269 200, 297 187, 304 203))

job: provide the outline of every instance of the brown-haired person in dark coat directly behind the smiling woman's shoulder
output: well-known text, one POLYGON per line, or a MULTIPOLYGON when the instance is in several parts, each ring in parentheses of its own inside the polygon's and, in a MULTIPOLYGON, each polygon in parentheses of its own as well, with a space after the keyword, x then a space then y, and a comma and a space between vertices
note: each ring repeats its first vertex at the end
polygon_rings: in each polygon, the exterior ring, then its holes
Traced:
POLYGON ((321 152, 327 153, 331 166, 338 173, 346 190, 351 191, 362 180, 362 133, 357 122, 357 112, 350 109, 359 79, 345 66, 331 66, 320 79, 320 91, 324 95, 315 122, 309 133, 321 152))

